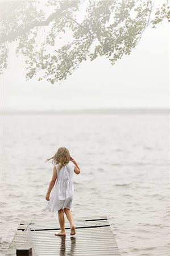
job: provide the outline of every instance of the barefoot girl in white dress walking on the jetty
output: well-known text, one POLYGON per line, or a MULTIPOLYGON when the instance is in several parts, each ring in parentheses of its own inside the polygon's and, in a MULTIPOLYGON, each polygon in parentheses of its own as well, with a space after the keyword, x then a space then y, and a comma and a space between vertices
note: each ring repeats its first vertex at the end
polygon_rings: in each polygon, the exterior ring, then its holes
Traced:
POLYGON ((55 236, 65 236, 64 213, 71 225, 71 235, 74 235, 76 234, 76 229, 70 210, 74 192, 73 172, 80 174, 80 168, 65 147, 60 147, 56 154, 52 158, 47 159, 46 162, 51 159, 53 159, 52 163, 54 166, 52 179, 45 196, 45 199, 48 201, 46 209, 51 210, 51 212, 58 211, 61 230, 56 232, 55 236))

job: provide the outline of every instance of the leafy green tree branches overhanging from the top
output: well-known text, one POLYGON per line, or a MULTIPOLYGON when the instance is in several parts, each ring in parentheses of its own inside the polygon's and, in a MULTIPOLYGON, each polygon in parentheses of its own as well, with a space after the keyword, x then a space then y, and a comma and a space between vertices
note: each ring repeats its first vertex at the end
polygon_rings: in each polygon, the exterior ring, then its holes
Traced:
POLYGON ((154 0, 1 2, 0 71, 7 68, 14 41, 27 79, 37 75, 54 84, 98 56, 113 65, 131 53, 148 26, 170 21, 169 1, 153 16, 154 5, 154 0))

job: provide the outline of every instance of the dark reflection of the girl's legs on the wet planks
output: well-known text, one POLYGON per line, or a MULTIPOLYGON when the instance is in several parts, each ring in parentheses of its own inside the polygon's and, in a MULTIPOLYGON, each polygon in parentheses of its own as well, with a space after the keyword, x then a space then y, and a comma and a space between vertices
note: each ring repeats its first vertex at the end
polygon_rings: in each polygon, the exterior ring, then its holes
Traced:
POLYGON ((66 251, 67 249, 67 245, 65 245, 65 243, 69 243, 69 241, 65 241, 66 236, 61 236, 61 245, 60 245, 60 256, 64 256, 66 255, 65 253, 67 253, 67 255, 73 255, 74 254, 74 249, 76 246, 76 237, 71 237, 71 248, 69 250, 66 251))

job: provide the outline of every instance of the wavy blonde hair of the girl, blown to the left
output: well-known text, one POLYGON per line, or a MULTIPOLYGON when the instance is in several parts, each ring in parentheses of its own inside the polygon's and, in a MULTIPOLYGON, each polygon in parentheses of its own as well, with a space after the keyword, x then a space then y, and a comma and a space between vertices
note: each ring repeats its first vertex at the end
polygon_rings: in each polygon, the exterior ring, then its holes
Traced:
POLYGON ((58 168, 60 170, 63 166, 68 164, 69 160, 71 160, 71 155, 66 147, 60 147, 56 154, 52 156, 52 158, 47 159, 45 162, 48 162, 51 159, 53 159, 53 164, 59 164, 58 168))

